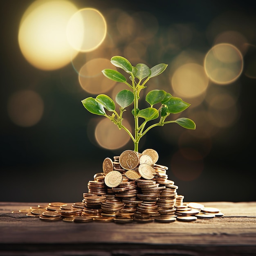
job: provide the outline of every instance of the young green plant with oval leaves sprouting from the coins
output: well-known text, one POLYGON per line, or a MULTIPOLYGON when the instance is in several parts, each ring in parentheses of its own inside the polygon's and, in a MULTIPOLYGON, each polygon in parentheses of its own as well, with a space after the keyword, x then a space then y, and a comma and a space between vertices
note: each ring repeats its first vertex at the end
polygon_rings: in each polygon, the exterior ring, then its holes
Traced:
POLYGON ((182 99, 173 97, 170 93, 164 90, 152 90, 146 95, 146 102, 150 107, 139 109, 139 93, 146 88, 146 83, 149 79, 158 76, 166 69, 164 63, 155 65, 149 68, 145 64, 137 64, 135 67, 124 57, 114 56, 111 58, 111 63, 116 67, 121 68, 130 75, 131 82, 128 83, 126 77, 120 72, 112 69, 102 70, 103 74, 116 82, 125 83, 130 90, 122 90, 117 93, 115 101, 120 106, 119 113, 116 111, 115 102, 106 94, 99 94, 95 99, 88 97, 82 101, 83 106, 92 114, 105 116, 110 121, 118 126, 119 129, 124 129, 131 137, 134 143, 134 151, 138 152, 139 140, 150 129, 155 126, 164 126, 164 124, 176 123, 186 129, 195 129, 195 123, 189 118, 182 117, 173 121, 166 121, 170 114, 180 113, 190 106, 189 103, 182 99), (134 135, 122 124, 123 113, 126 107, 133 103, 132 115, 134 116, 134 135), (154 108, 157 103, 160 105, 154 108), (112 112, 111 115, 106 113, 106 110, 112 112), (139 122, 139 118, 144 121, 139 122), (147 125, 149 121, 158 119, 155 124, 147 125))

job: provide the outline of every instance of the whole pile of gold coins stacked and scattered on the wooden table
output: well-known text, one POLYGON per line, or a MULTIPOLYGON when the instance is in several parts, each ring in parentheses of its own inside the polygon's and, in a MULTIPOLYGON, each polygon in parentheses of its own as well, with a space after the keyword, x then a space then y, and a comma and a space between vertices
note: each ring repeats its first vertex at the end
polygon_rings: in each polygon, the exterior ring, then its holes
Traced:
POLYGON ((103 172, 88 181, 82 202, 55 202, 19 212, 48 221, 117 223, 195 221, 224 215, 200 203, 184 204, 184 196, 177 194, 178 186, 168 179, 168 167, 156 164, 157 160, 153 149, 142 153, 125 150, 113 161, 104 159, 103 172))

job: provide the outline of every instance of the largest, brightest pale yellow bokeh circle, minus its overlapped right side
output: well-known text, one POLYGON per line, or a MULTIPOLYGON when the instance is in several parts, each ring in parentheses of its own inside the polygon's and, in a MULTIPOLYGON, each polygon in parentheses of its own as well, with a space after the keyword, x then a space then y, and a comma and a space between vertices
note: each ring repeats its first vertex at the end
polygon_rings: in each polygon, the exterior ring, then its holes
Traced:
POLYGON ((66 36, 67 23, 76 11, 66 0, 37 0, 29 6, 20 21, 18 43, 31 65, 56 70, 76 56, 66 36))

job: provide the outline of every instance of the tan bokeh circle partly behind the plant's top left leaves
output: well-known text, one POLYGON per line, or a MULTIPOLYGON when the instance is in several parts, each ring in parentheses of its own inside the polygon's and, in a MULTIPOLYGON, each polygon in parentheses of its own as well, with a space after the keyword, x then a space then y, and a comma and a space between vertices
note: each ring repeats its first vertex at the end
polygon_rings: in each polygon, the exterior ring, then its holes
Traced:
POLYGON ((85 63, 79 71, 79 83, 83 90, 90 94, 108 92, 115 85, 115 81, 102 74, 102 70, 116 68, 106 58, 94 58, 85 63))

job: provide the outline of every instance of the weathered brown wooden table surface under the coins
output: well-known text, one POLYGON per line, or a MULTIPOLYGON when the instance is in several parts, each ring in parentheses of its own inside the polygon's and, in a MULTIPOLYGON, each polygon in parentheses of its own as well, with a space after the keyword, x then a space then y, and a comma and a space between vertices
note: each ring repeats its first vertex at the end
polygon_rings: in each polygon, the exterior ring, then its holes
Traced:
POLYGON ((11 211, 39 203, 0 202, 0 255, 256 255, 256 202, 201 202, 223 217, 117 224, 43 221, 11 211))

